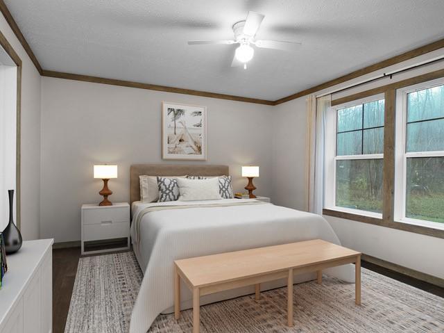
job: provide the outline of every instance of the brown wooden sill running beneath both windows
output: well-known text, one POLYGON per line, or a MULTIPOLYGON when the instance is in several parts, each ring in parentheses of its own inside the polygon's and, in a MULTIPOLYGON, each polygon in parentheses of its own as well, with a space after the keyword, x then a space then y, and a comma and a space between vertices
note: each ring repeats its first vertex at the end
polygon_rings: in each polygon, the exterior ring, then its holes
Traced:
POLYGON ((379 225, 380 227, 403 230, 404 232, 413 232, 415 234, 444 238, 444 230, 424 227, 422 225, 395 222, 393 220, 384 220, 383 218, 374 218, 371 216, 348 213, 345 211, 335 211, 334 209, 323 209, 323 215, 343 218, 345 220, 364 222, 370 225, 379 225))

